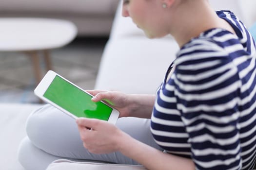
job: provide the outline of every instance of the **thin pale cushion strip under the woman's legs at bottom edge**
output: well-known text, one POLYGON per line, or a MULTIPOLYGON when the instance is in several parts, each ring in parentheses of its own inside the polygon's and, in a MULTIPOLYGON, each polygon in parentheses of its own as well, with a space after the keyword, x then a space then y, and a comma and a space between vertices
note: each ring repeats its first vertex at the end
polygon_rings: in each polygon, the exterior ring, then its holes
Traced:
POLYGON ((95 162, 75 162, 60 159, 51 163, 46 170, 146 170, 138 165, 121 165, 95 162))

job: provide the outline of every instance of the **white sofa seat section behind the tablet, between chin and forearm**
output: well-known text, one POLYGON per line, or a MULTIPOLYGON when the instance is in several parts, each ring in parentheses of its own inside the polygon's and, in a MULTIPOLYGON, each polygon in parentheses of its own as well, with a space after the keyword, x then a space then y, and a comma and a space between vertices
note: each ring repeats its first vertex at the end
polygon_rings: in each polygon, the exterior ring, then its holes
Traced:
POLYGON ((173 39, 112 39, 104 49, 95 88, 155 94, 177 50, 173 39))

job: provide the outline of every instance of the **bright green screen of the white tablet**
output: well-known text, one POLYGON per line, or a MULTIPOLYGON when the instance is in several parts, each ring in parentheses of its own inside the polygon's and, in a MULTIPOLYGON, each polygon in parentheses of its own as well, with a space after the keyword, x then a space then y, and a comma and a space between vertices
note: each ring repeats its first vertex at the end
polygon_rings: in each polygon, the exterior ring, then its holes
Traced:
POLYGON ((77 117, 108 120, 112 108, 102 102, 91 101, 92 96, 56 76, 43 95, 77 117))

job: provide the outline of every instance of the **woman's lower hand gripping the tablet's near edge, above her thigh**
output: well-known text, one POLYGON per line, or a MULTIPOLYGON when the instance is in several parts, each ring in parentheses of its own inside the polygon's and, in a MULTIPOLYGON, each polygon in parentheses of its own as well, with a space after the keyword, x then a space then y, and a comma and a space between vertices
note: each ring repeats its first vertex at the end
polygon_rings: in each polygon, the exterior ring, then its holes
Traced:
POLYGON ((83 146, 90 153, 111 153, 118 151, 118 140, 123 134, 115 125, 98 119, 76 120, 83 146))

